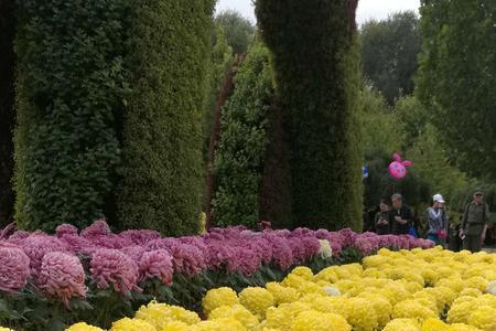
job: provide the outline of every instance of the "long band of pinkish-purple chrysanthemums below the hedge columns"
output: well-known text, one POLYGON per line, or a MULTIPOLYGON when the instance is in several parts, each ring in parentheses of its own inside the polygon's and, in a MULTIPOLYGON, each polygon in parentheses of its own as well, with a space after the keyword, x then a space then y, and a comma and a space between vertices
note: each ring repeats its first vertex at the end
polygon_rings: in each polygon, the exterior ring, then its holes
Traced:
POLYGON ((152 278, 169 286, 174 273, 192 277, 205 270, 222 270, 250 276, 262 265, 287 270, 317 256, 319 239, 328 241, 335 256, 348 247, 369 255, 381 247, 433 246, 432 242, 408 235, 378 236, 351 229, 252 232, 237 226, 171 238, 149 229, 114 234, 105 221, 80 233, 64 224, 55 235, 19 231, 0 239, 0 291, 15 292, 33 284, 44 296, 68 305, 72 297, 85 297, 85 276, 100 289, 127 293, 139 291, 139 284, 152 278), (89 259, 86 270, 82 258, 89 259))

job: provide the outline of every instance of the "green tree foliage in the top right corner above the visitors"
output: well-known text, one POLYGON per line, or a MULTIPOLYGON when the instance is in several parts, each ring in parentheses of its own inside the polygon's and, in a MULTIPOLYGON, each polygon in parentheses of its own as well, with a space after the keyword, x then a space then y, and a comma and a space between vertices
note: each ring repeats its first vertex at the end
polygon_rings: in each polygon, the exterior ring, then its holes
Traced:
POLYGON ((423 0, 419 97, 450 160, 496 179, 496 2, 423 0))

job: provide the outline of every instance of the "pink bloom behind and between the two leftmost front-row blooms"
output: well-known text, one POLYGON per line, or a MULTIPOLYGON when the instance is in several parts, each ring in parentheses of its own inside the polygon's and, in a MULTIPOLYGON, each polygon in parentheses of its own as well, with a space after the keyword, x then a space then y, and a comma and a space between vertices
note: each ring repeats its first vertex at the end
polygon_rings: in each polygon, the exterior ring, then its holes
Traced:
POLYGON ((43 256, 51 252, 66 252, 67 245, 45 234, 31 235, 22 243, 22 249, 30 258, 31 274, 36 277, 43 260, 43 256))

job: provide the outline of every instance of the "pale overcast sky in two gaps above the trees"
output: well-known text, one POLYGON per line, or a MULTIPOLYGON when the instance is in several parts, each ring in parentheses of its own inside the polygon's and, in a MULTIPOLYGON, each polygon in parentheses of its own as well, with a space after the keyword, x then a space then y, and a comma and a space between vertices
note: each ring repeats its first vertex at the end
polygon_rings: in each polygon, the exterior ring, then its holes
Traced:
MULTIPOLYGON (((402 10, 418 11, 420 0, 359 0, 357 21, 358 24, 370 18, 385 19, 389 13, 402 10)), ((255 22, 251 0, 219 0, 217 10, 236 9, 255 22)))

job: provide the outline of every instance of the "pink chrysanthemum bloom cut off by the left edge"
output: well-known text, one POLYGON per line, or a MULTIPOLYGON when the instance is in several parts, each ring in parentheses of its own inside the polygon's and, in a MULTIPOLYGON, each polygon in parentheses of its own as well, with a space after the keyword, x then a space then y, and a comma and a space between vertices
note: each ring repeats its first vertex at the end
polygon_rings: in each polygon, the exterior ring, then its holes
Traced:
POLYGON ((30 259, 19 247, 0 246, 0 290, 13 292, 30 277, 30 259))

